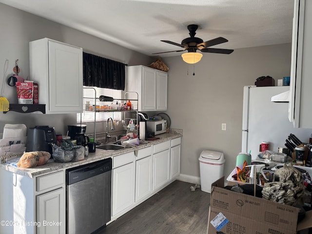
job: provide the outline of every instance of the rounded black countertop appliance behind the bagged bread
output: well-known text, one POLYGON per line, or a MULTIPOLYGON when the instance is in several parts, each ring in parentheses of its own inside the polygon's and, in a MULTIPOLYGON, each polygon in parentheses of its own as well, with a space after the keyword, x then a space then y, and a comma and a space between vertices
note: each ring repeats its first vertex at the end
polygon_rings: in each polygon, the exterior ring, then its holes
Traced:
POLYGON ((53 127, 36 125, 28 129, 26 152, 46 151, 52 155, 52 145, 56 143, 57 137, 53 127))

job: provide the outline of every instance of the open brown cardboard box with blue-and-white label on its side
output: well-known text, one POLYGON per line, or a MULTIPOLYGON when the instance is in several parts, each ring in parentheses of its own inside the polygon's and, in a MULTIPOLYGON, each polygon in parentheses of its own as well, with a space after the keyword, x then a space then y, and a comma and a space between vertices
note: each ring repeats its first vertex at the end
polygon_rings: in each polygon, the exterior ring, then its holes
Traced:
POLYGON ((212 184, 207 234, 296 234, 312 227, 312 211, 297 225, 299 209, 212 184))

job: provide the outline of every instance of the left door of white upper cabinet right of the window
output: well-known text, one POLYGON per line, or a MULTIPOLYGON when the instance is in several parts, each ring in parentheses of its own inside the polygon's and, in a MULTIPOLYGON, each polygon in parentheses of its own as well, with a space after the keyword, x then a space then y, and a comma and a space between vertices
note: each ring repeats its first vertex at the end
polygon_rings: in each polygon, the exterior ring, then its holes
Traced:
POLYGON ((156 110, 156 71, 142 67, 142 111, 156 110))

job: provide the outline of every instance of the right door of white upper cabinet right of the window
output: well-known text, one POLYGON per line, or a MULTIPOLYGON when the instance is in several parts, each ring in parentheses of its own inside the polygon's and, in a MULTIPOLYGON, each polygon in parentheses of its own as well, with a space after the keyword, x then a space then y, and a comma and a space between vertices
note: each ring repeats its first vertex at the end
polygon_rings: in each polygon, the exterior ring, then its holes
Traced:
POLYGON ((167 110, 168 74, 157 72, 156 109, 167 110))

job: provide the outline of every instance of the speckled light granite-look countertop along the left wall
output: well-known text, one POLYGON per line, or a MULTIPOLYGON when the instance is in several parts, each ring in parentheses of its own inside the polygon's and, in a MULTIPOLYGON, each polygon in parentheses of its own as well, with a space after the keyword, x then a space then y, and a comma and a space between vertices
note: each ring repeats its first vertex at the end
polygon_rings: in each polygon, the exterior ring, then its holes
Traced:
MULTIPOLYGON (((140 144, 138 146, 138 149, 143 149, 151 145, 161 143, 166 140, 174 139, 177 137, 182 137, 182 130, 173 129, 170 131, 170 133, 160 134, 160 135, 157 135, 156 137, 159 137, 159 139, 147 141, 147 143, 145 144, 140 144)), ((20 168, 20 167, 14 167, 14 166, 8 165, 6 163, 0 163, 0 169, 19 174, 21 176, 28 176, 30 178, 34 178, 36 176, 42 176, 42 175, 50 174, 53 172, 62 171, 68 168, 85 165, 91 162, 126 154, 132 151, 134 151, 132 147, 126 147, 123 150, 118 150, 115 152, 109 152, 109 151, 97 149, 95 153, 89 153, 87 157, 77 162, 58 163, 58 162, 54 162, 53 159, 50 159, 46 164, 42 166, 37 166, 34 168, 20 168)))

